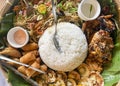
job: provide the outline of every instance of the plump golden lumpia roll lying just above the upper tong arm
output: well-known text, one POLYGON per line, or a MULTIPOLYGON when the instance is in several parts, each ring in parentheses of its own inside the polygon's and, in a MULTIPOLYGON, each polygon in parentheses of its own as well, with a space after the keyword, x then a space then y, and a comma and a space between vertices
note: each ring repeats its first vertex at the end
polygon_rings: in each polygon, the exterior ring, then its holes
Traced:
POLYGON ((20 58, 20 62, 25 64, 35 60, 36 60, 36 56, 33 52, 29 52, 20 58))

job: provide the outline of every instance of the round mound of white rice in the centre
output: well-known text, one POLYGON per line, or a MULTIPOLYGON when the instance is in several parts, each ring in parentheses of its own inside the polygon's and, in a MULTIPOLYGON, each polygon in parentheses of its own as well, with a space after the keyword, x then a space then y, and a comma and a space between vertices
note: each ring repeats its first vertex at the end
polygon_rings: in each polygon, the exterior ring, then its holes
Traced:
POLYGON ((48 28, 39 39, 39 53, 42 61, 57 71, 72 71, 86 58, 88 44, 82 30, 75 24, 61 22, 57 25, 57 39, 61 53, 53 42, 55 28, 48 28))

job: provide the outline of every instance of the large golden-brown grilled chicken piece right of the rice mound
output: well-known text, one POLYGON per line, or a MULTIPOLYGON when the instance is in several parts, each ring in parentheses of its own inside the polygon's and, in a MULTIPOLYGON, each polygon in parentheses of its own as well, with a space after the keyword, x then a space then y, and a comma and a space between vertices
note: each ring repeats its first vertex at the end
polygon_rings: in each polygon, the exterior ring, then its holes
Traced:
POLYGON ((88 59, 104 63, 111 60, 111 51, 113 49, 113 40, 109 33, 104 30, 96 32, 89 44, 88 59))

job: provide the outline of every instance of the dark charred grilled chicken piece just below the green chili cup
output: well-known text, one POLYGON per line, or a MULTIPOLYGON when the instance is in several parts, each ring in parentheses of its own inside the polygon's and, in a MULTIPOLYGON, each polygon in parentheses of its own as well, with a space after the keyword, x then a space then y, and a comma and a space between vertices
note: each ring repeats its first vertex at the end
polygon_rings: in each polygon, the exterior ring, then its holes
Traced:
POLYGON ((112 34, 115 31, 114 20, 111 19, 113 15, 103 15, 97 18, 96 20, 86 21, 82 25, 82 30, 86 34, 88 43, 90 43, 93 35, 100 29, 108 31, 112 34))

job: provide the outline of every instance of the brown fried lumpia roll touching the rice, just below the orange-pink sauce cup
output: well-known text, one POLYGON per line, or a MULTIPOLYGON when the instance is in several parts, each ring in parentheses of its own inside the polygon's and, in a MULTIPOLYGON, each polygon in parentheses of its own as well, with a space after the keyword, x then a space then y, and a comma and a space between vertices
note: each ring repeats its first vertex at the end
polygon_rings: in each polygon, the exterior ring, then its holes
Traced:
POLYGON ((38 44, 35 42, 29 43, 25 45, 24 47, 22 47, 22 50, 24 51, 32 51, 32 50, 37 50, 37 49, 38 49, 38 44))

